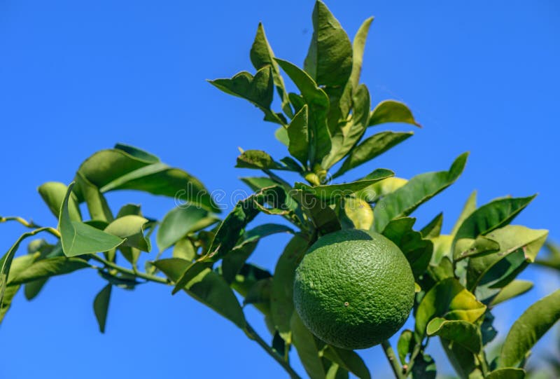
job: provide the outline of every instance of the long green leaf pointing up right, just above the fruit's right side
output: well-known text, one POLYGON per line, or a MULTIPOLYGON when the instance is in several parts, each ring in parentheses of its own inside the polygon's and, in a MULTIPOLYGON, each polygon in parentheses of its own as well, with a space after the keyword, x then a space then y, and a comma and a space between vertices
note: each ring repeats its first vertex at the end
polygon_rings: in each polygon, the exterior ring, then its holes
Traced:
POLYGON ((373 210, 375 229, 383 230, 392 219, 411 214, 423 202, 453 184, 463 172, 467 157, 468 153, 458 156, 449 171, 416 175, 404 186, 381 198, 373 210))

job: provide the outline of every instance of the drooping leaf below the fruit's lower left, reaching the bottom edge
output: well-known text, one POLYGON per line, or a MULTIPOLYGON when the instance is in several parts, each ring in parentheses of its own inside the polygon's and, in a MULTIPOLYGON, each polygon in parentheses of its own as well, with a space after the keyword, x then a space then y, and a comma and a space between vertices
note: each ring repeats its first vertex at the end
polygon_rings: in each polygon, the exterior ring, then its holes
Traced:
MULTIPOLYGON (((274 296, 274 295, 273 295, 274 296)), ((325 379, 325 369, 319 357, 319 347, 315 336, 305 327, 297 312, 292 312, 290 318, 292 342, 297 350, 303 367, 311 379, 325 379)), ((281 335, 282 333, 280 333, 281 335)))

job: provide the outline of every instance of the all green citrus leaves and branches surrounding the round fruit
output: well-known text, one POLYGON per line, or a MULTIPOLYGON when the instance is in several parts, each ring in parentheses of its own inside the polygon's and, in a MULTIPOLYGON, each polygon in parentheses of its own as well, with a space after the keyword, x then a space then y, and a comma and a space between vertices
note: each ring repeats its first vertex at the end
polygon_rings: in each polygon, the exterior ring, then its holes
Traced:
MULTIPOLYGON (((400 333, 396 352, 387 341, 382 343, 397 378, 435 378, 438 362, 426 352, 433 338, 440 339, 461 378, 524 378, 531 348, 560 317, 560 291, 528 307, 509 332, 502 331, 505 338, 496 357, 489 357, 487 346, 497 333, 493 308, 533 285, 516 277, 535 261, 547 230, 512 222, 534 196, 477 205, 473 193, 451 233, 441 233, 442 213, 426 226, 416 225, 414 210, 458 179, 468 154, 458 154, 447 167, 430 167, 440 171, 410 179, 376 167, 374 158, 413 134, 387 130, 391 123, 420 125, 401 102, 371 104, 370 92, 360 83, 372 18, 363 22, 353 41, 321 1, 315 4, 312 21, 303 67, 275 57, 265 29, 258 25, 251 72, 210 81, 258 107, 286 145, 286 157, 248 150, 237 158, 237 167, 259 172, 241 179, 253 195, 221 216, 207 188, 188 172, 124 144, 98 151, 78 167, 71 184, 48 182, 38 188, 57 219, 52 226, 19 217, 0 219, 29 228, 0 261, 0 319, 18 290, 31 299, 48 281, 58 280, 56 276, 97 270, 100 291, 93 309, 102 332, 115 287, 158 283, 229 319, 292 378, 306 373, 314 379, 347 378, 349 373, 370 378, 374 372, 356 352, 316 338, 293 305, 295 268, 308 247, 321 235, 359 228, 382 233, 397 244, 414 273, 414 329, 400 333), (288 81, 296 92, 289 92, 288 81), (351 177, 360 165, 371 167, 371 173, 351 177), (281 179, 283 171, 300 174, 301 182, 281 179), (343 175, 346 182, 330 181, 343 175), (161 220, 144 215, 139 205, 111 209, 105 194, 123 189, 181 198, 186 205, 171 209, 161 220), (80 209, 86 207, 83 214, 80 209), (260 213, 270 215, 271 221, 254 226, 251 221, 260 213), (37 239, 38 233, 48 238, 37 239), (250 263, 251 253, 260 239, 274 233, 292 237, 277 252, 274 270, 268 271, 250 263), (24 242, 27 254, 17 254, 24 242), (139 267, 140 256, 148 253, 150 260, 139 267), (262 313, 269 336, 259 336, 248 323, 248 306, 262 313), (293 353, 306 373, 290 366, 293 353)), ((559 268, 557 249, 552 252, 540 263, 559 268)))

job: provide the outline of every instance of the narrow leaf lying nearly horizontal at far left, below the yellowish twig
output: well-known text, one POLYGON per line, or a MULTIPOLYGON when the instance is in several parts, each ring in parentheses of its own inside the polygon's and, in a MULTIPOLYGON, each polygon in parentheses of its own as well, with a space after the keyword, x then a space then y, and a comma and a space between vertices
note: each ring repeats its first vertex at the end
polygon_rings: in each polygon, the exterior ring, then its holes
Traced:
POLYGON ((73 273, 73 271, 89 267, 91 267, 90 264, 80 258, 56 256, 54 258, 41 259, 34 261, 24 270, 20 270, 18 275, 12 273, 8 279, 8 284, 25 284, 56 275, 73 273))

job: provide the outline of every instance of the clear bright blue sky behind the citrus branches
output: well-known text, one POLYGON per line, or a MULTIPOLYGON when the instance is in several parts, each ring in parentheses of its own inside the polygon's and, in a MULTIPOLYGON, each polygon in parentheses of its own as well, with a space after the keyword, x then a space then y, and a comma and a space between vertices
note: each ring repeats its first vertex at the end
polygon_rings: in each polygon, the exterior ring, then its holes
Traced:
MULTIPOLYGON (((372 165, 410 177, 447 169, 470 151, 463 177, 419 209, 419 225, 444 210, 449 230, 474 188, 481 203, 538 192, 516 222, 549 228, 560 241, 560 6, 451 3, 327 1, 351 36, 376 17, 362 81, 374 101, 400 99, 424 125, 372 165)), ((250 69, 259 21, 276 55, 302 64, 312 7, 311 0, 1 0, 0 214, 55 225, 36 187, 68 183, 84 158, 116 142, 151 151, 212 190, 244 188, 237 178, 252 173, 233 168, 237 146, 279 158, 285 148, 257 109, 204 79, 250 69)), ((142 202, 153 217, 173 207, 172 199, 140 193, 109 200, 116 207, 142 202)), ((6 251, 23 230, 0 228, 6 251)), ((271 237, 253 260, 272 268, 283 242, 271 237)), ((542 284, 498 311, 502 330, 559 287, 558 277, 543 271, 523 277, 542 284)), ((76 273, 51 280, 29 303, 19 294, 0 327, 0 378, 284 378, 235 326, 155 284, 113 290, 106 334, 99 334, 92 299, 103 286, 95 273, 76 273)), ((264 331, 255 312, 249 317, 264 331)), ((388 372, 379 347, 361 354, 388 372)))

